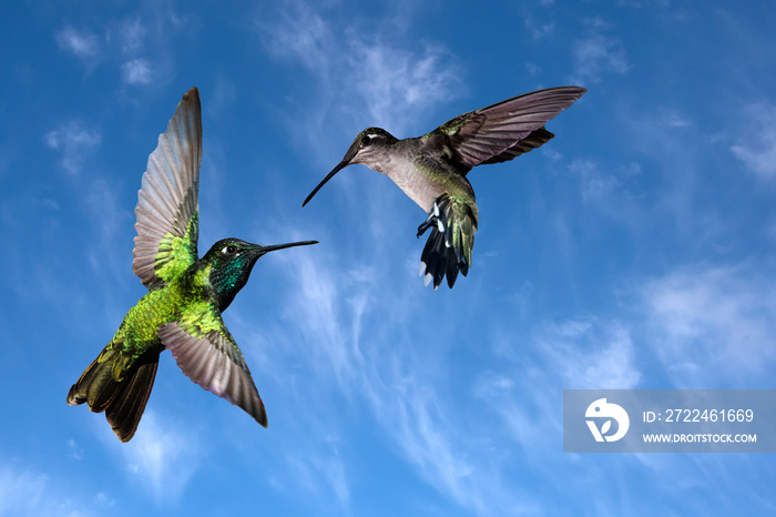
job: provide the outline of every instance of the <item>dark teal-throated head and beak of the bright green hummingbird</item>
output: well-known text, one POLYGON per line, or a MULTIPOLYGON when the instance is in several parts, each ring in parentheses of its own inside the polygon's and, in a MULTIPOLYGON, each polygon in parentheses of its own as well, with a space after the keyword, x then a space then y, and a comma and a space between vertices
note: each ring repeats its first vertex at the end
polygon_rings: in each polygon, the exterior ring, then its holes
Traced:
POLYGON ((239 239, 222 239, 211 246, 202 262, 210 265, 208 281, 218 311, 225 311, 235 295, 245 286, 256 261, 265 253, 293 246, 317 244, 318 241, 300 241, 262 246, 239 239))

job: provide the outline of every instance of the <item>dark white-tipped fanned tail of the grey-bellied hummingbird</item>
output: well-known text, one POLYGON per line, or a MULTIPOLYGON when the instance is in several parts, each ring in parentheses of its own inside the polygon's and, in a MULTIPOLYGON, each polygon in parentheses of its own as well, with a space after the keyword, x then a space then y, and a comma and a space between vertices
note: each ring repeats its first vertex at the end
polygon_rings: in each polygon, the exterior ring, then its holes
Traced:
POLYGON ((418 237, 431 229, 420 255, 425 285, 433 280, 436 291, 447 276, 447 284, 452 288, 459 271, 463 276, 469 273, 477 221, 476 205, 456 201, 450 194, 437 197, 428 219, 418 227, 418 237))

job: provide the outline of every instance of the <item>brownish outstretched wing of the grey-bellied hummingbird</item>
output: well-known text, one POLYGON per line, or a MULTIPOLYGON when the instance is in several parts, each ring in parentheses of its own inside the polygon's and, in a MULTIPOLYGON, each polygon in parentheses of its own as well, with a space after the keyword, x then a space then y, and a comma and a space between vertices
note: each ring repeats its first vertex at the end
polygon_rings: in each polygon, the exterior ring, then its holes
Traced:
POLYGON ((447 146, 464 173, 480 163, 512 160, 552 139, 544 124, 586 91, 561 87, 524 93, 458 115, 428 136, 447 135, 447 146))

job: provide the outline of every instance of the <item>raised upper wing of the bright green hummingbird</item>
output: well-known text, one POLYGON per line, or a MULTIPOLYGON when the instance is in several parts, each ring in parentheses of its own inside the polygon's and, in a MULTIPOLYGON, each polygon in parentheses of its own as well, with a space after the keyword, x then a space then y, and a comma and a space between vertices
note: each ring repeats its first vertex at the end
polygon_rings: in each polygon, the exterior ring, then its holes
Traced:
POLYGON ((201 164, 200 92, 192 88, 159 136, 137 192, 132 271, 150 290, 197 260, 201 164))

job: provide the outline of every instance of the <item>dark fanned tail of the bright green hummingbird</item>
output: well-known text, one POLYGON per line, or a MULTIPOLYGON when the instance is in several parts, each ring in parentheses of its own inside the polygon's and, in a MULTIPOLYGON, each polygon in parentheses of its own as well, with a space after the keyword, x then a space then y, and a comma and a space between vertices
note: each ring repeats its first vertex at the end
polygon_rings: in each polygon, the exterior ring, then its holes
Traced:
MULTIPOLYGON (((110 346, 110 345, 109 345, 110 346)), ((129 372, 119 347, 105 347, 68 393, 68 404, 86 403, 94 413, 105 412, 113 433, 122 442, 134 436, 156 378, 159 353, 135 359, 129 372)))

